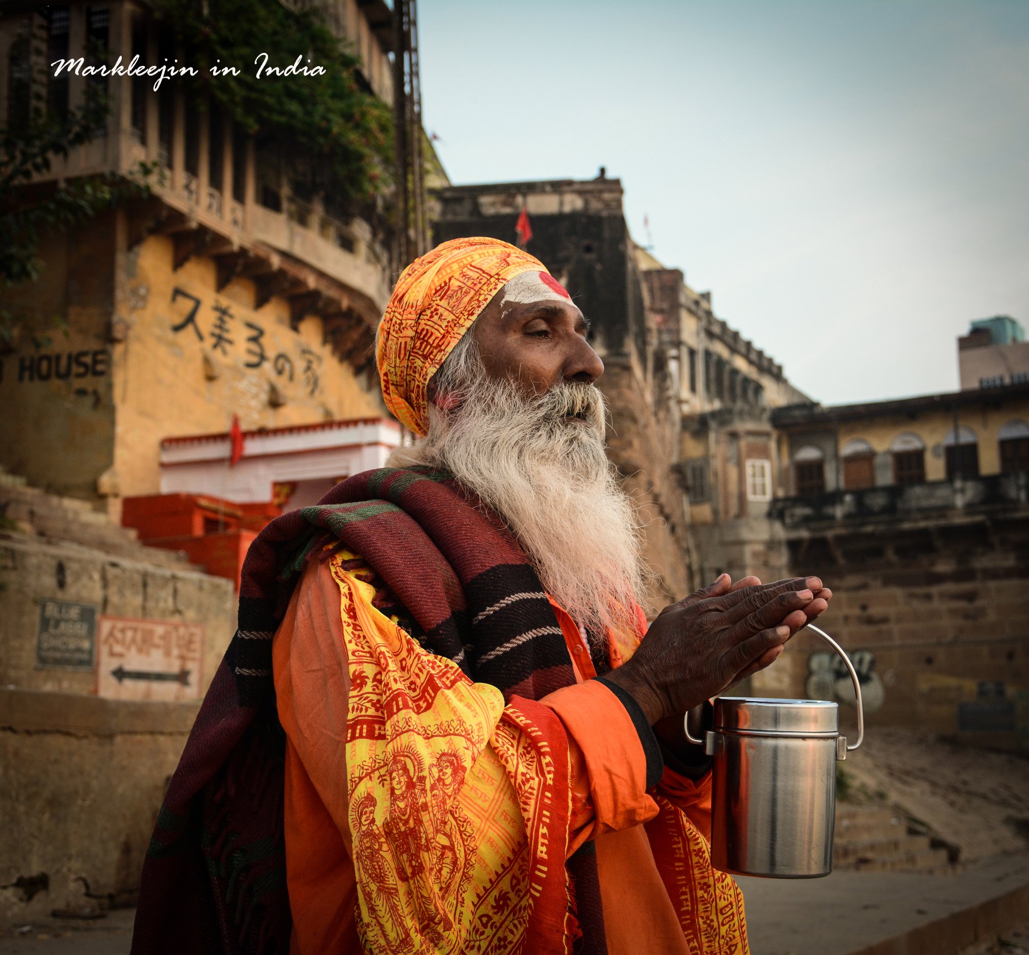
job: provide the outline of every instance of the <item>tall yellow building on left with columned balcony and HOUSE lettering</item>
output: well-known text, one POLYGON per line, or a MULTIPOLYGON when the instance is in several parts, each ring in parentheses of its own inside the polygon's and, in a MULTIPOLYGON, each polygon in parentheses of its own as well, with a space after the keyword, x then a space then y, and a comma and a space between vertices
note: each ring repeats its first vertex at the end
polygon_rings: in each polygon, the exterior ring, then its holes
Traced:
MULTIPOLYGON (((392 103, 389 7, 324 6, 360 56, 359 81, 392 103)), ((99 45, 126 63, 161 62, 175 42, 153 5, 136 0, 5 8, 8 116, 33 76, 61 108, 81 102, 87 82, 40 72, 30 39, 71 58, 99 45)), ((143 162, 154 165, 151 194, 44 236, 40 280, 5 292, 5 307, 44 326, 57 318, 67 333, 41 347, 23 337, 0 355, 0 398, 20 411, 0 421, 0 462, 117 519, 122 497, 161 490, 166 438, 225 432, 234 416, 244 429, 274 431, 386 415, 372 342, 395 237, 386 200, 341 203, 313 191, 303 153, 246 135, 181 83, 154 93, 129 77, 105 82, 106 126, 34 187, 128 176, 143 162)))

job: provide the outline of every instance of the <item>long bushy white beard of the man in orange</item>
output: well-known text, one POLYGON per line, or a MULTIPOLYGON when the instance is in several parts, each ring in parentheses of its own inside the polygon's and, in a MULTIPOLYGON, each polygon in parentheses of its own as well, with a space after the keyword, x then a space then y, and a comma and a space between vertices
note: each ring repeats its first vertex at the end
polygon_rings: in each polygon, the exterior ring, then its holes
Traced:
POLYGON ((501 517, 546 592, 589 632, 635 630, 649 571, 635 507, 604 451, 600 389, 562 382, 526 397, 488 378, 470 342, 451 357, 432 384, 456 406, 430 403, 428 434, 389 463, 449 470, 501 517))

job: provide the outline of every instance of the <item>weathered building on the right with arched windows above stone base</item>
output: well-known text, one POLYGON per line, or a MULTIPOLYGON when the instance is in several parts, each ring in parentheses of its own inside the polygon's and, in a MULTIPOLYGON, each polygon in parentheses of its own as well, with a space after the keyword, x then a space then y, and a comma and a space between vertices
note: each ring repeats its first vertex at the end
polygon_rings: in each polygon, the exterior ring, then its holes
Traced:
MULTIPOLYGON (((772 413, 791 573, 832 588, 872 722, 1029 749, 1029 386, 772 413)), ((845 673, 802 636, 769 671, 787 695, 845 673)))

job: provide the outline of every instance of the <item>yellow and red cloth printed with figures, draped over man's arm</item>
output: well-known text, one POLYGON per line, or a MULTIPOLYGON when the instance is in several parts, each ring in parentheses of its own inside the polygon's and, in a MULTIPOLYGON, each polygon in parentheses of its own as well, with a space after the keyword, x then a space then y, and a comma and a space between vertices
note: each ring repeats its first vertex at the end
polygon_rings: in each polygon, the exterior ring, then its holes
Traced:
POLYGON ((567 752, 524 711, 505 710, 499 689, 472 683, 379 613, 346 557, 330 564, 350 662, 347 783, 364 949, 564 952, 567 752))

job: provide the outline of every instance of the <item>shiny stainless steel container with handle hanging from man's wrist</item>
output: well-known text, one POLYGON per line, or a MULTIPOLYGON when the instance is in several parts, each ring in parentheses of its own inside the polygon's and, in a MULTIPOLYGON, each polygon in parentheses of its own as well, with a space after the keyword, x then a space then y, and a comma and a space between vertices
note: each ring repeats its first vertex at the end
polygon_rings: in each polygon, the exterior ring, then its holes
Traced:
MULTIPOLYGON (((711 861, 740 876, 814 879, 832 871, 836 764, 864 738, 857 673, 842 647, 857 698, 857 740, 840 735, 839 707, 824 700, 719 697, 704 745, 714 757, 711 861)), ((688 726, 687 738, 695 743, 688 726)))

